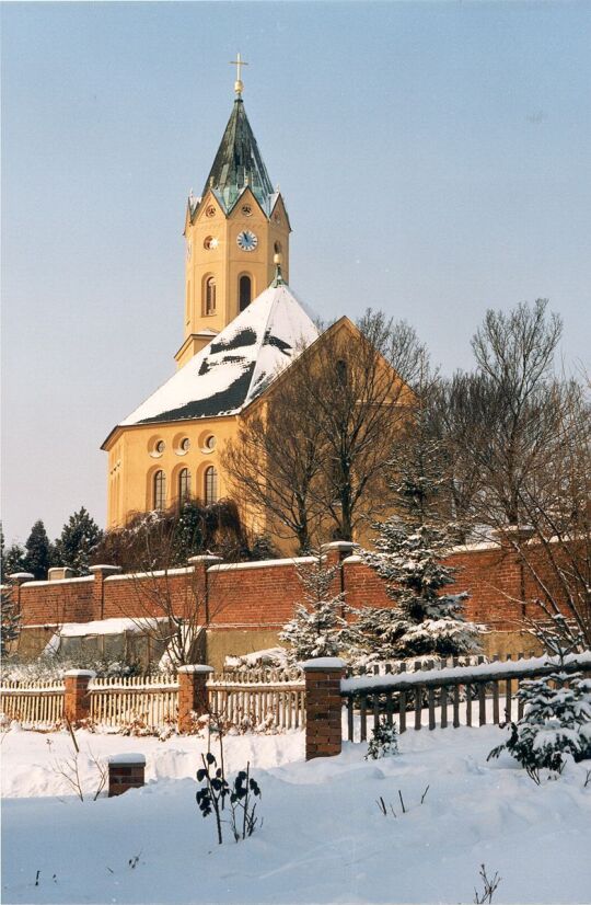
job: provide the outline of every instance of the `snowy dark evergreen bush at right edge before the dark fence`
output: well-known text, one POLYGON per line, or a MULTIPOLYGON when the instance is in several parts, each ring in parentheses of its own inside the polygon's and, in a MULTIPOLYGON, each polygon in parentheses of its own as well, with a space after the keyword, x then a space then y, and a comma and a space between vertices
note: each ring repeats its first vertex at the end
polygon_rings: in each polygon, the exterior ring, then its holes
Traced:
POLYGON ((540 783, 540 770, 561 772, 567 756, 591 757, 591 679, 564 672, 563 663, 543 678, 522 681, 523 717, 509 725, 509 740, 488 758, 508 751, 540 783))

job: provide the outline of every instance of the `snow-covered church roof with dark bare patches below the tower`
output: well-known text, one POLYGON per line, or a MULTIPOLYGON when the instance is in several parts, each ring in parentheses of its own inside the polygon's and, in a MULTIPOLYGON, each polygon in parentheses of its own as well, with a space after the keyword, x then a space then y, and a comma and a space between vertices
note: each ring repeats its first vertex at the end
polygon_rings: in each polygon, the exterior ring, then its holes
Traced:
POLYGON ((120 425, 237 414, 317 335, 291 289, 269 286, 120 425))

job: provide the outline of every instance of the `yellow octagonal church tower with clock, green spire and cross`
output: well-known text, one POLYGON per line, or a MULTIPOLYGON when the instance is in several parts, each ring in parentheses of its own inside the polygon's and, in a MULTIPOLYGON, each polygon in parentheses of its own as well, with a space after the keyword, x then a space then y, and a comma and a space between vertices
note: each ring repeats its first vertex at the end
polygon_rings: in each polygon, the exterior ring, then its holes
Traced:
POLYGON ((290 225, 244 110, 240 54, 235 100, 201 197, 188 198, 183 367, 271 283, 275 256, 289 280, 290 225))

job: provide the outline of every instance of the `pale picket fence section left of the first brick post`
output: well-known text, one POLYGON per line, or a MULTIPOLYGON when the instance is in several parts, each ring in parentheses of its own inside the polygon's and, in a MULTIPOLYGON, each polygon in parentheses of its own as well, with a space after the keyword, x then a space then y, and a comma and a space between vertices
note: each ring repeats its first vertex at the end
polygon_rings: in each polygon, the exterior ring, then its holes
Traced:
POLYGON ((0 713, 5 720, 19 720, 23 729, 55 726, 63 719, 63 683, 3 680, 0 713))

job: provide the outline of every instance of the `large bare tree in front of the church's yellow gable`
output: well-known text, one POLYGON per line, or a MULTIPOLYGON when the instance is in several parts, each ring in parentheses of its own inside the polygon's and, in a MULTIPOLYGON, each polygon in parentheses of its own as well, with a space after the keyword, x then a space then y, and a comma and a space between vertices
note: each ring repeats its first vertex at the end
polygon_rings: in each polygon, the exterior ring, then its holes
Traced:
POLYGON ((384 507, 393 438, 408 419, 426 352, 414 330, 368 310, 304 350, 268 390, 265 414, 244 422, 224 467, 253 509, 308 550, 351 540, 384 507))

